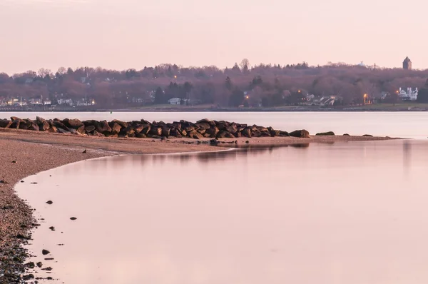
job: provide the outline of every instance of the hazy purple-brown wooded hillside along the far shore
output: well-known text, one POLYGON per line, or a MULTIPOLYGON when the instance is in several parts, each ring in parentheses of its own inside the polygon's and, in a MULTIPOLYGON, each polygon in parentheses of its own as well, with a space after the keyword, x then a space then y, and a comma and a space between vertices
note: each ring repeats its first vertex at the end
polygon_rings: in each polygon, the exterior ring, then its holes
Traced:
POLYGON ((398 88, 424 88, 427 78, 428 70, 347 64, 309 66, 305 62, 250 66, 246 59, 230 69, 174 64, 125 71, 61 67, 56 72, 40 69, 11 76, 0 73, 0 98, 43 96, 55 100, 86 96, 106 107, 130 102, 161 104, 169 98, 218 106, 281 106, 301 103, 311 93, 340 96, 341 103, 349 105, 362 103, 364 94, 376 98, 382 92, 390 93, 394 101, 398 88))

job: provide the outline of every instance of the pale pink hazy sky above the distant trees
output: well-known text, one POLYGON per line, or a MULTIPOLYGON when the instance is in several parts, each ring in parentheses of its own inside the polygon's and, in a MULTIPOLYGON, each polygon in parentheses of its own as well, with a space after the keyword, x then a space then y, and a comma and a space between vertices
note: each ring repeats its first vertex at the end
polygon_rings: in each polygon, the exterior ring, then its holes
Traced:
POLYGON ((0 0, 0 72, 345 62, 428 69, 428 1, 0 0))

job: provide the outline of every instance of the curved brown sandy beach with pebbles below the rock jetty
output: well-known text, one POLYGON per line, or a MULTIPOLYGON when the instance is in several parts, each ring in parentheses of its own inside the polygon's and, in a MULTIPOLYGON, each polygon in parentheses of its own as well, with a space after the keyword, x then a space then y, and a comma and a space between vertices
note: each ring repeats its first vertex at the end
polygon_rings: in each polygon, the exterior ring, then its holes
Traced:
POLYGON ((16 183, 28 176, 70 163, 122 154, 180 154, 229 151, 241 146, 288 146, 310 143, 386 141, 394 138, 366 136, 311 136, 311 138, 108 138, 0 128, 0 283, 21 283, 29 275, 25 243, 37 227, 31 205, 16 195, 16 183), (249 143, 246 143, 249 141, 249 143), (225 149, 229 148, 229 149, 225 149), (221 149, 221 150, 220 150, 221 149), (86 153, 83 151, 86 150, 86 153), (41 162, 43 161, 43 162, 41 162))

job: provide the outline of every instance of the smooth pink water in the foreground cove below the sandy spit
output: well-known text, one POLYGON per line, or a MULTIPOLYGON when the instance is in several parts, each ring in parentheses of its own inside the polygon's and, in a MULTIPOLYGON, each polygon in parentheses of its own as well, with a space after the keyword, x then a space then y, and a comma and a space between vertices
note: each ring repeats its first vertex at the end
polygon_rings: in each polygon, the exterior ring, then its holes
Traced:
POLYGON ((101 158, 16 189, 60 283, 422 284, 427 168, 424 141, 311 144, 101 158))

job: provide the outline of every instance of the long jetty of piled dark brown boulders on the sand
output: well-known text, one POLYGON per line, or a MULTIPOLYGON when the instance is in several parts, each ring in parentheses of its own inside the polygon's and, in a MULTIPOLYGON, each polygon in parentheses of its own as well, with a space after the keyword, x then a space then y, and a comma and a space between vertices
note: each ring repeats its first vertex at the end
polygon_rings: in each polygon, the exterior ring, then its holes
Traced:
POLYGON ((239 137, 297 137, 310 138, 306 130, 287 131, 275 130, 272 127, 249 126, 247 124, 211 121, 202 119, 196 123, 190 121, 79 121, 78 119, 58 118, 46 120, 37 116, 36 120, 0 119, 0 128, 16 128, 29 131, 49 131, 51 133, 67 133, 80 136, 136 137, 136 138, 239 138, 239 137))

